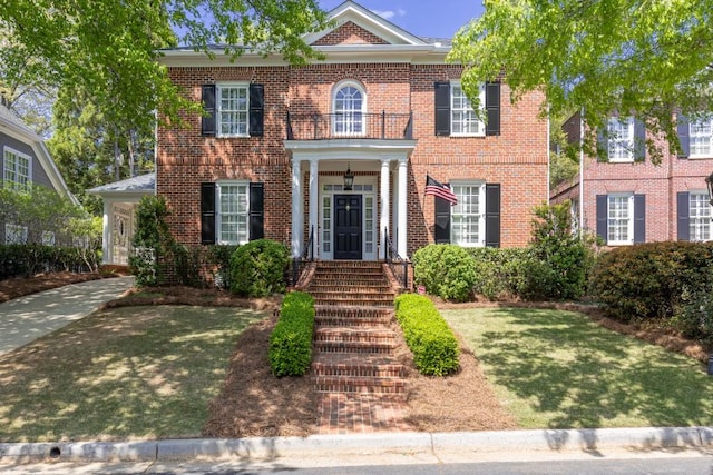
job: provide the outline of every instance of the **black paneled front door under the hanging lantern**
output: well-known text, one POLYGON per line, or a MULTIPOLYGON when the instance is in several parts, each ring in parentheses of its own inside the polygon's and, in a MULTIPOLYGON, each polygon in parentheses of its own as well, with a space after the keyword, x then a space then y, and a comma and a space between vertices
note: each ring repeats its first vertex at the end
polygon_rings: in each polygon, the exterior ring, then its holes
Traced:
POLYGON ((334 195, 334 259, 361 259, 361 195, 334 195))

